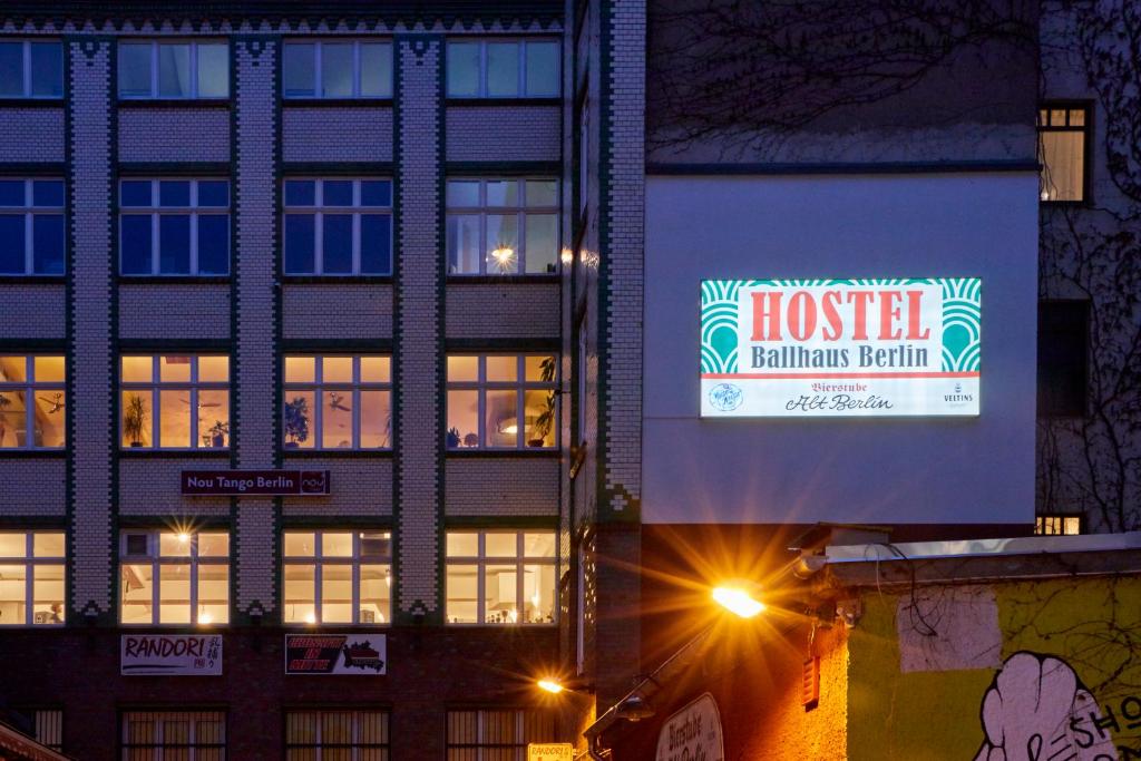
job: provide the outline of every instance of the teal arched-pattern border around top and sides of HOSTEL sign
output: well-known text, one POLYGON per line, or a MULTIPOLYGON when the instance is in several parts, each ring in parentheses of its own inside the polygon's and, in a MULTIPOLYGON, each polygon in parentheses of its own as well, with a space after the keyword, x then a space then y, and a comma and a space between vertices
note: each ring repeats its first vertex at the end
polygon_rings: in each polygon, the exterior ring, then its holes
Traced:
POLYGON ((702 373, 737 372, 737 294, 742 288, 779 285, 942 286, 942 371, 979 372, 982 282, 978 277, 702 281, 702 373))

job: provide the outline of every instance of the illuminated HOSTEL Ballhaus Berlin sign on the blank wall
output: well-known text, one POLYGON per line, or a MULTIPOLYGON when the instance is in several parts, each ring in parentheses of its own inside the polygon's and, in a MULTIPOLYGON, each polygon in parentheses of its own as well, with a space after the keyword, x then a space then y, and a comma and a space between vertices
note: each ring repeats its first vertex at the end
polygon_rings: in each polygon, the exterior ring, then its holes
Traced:
POLYGON ((979 414, 977 277, 702 282, 703 418, 979 414))

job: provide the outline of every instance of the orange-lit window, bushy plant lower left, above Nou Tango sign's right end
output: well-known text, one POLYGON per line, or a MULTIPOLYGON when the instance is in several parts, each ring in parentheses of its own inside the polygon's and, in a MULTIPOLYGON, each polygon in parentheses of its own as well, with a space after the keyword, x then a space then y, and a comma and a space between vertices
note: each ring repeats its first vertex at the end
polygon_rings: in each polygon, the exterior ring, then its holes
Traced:
POLYGON ((390 448, 391 358, 289 355, 282 404, 285 448, 390 448))

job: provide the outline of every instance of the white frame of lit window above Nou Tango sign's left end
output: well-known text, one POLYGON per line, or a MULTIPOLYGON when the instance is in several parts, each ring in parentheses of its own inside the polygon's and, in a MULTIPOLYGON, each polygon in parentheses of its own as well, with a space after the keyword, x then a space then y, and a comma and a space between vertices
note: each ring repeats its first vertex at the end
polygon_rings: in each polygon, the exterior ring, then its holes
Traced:
MULTIPOLYGON (((123 351, 119 355, 119 450, 127 452, 146 451, 146 452, 229 452, 234 446, 233 438, 230 438, 230 423, 233 423, 233 394, 230 391, 230 386, 234 380, 234 358, 232 355, 222 351, 187 351, 187 353, 144 353, 144 351, 123 351), (149 357, 151 358, 151 380, 149 381, 127 381, 123 380, 123 359, 128 357, 149 357), (189 357, 191 359, 191 379, 186 381, 163 381, 162 378, 162 357, 189 357), (202 381, 199 380, 199 361, 202 357, 226 357, 226 370, 229 378, 225 381, 202 381), (141 391, 149 394, 151 397, 151 445, 132 446, 130 443, 124 443, 127 439, 126 431, 126 395, 130 391, 141 391), (189 414, 189 446, 163 446, 162 445, 162 394, 161 391, 186 391, 188 403, 186 412, 189 414), (205 444, 199 445, 200 431, 199 431, 199 415, 193 414, 195 410, 199 408, 199 392, 200 391, 225 391, 226 392, 226 428, 225 434, 226 440, 224 446, 207 446, 205 444)), ((144 397, 145 398, 145 397, 144 397)))

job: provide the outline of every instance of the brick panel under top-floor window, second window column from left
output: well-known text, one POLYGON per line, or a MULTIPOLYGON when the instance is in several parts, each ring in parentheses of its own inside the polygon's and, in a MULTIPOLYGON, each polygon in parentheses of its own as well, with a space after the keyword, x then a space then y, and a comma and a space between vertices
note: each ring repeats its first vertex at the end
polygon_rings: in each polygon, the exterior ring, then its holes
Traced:
POLYGON ((119 110, 120 161, 229 161, 229 108, 119 110))

